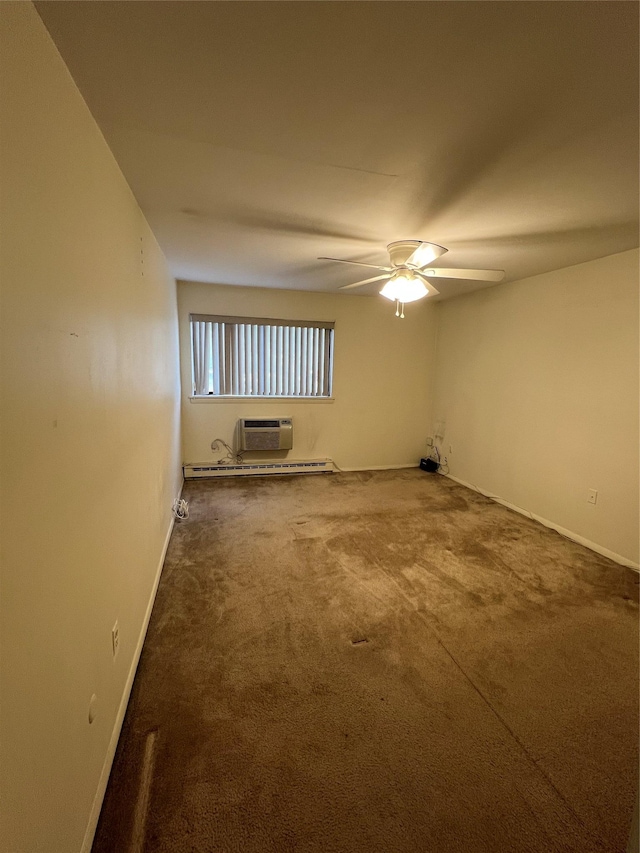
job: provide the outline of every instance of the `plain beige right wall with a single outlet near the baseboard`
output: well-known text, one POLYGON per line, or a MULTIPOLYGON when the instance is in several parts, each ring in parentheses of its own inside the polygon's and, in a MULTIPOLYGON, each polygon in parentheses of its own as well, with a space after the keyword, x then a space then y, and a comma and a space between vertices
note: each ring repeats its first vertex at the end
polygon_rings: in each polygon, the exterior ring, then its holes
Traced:
POLYGON ((437 363, 454 476, 637 562, 637 250, 442 303, 437 363))

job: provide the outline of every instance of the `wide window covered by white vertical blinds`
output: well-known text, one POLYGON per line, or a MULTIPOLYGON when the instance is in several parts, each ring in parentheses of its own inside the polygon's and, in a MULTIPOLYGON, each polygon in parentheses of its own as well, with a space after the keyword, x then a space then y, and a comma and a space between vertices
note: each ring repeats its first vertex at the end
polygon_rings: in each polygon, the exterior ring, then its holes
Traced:
POLYGON ((191 315, 193 393, 330 397, 334 323, 191 315))

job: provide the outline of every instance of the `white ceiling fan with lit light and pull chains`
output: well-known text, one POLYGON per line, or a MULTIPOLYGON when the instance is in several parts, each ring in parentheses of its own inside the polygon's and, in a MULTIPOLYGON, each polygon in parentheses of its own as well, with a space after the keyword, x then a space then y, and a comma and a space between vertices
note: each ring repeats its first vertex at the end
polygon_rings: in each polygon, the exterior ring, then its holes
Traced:
POLYGON ((404 317, 405 302, 415 302, 424 296, 437 296, 439 291, 428 281, 428 278, 457 278, 472 281, 502 281, 504 270, 462 270, 446 267, 429 266, 447 249, 437 243, 426 243, 422 240, 397 240, 387 246, 390 266, 381 267, 377 264, 363 264, 360 261, 345 261, 341 258, 318 258, 319 261, 336 261, 340 264, 355 264, 358 267, 372 267, 381 270, 382 275, 365 278, 354 284, 345 284, 340 290, 352 287, 362 287, 372 281, 388 279, 380 291, 382 296, 396 303, 396 317, 404 317))

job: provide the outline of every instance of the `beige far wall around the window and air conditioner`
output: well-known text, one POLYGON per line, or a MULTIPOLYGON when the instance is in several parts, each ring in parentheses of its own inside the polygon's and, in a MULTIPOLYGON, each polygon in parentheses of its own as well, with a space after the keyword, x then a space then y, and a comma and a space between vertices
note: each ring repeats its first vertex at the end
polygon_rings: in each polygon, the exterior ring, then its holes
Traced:
POLYGON ((214 461, 211 441, 231 444, 238 418, 291 416, 289 459, 329 457, 344 469, 417 465, 431 422, 435 312, 428 302, 408 305, 404 320, 394 310, 379 296, 179 282, 184 460, 214 461), (191 402, 189 313, 334 320, 335 400, 191 402))

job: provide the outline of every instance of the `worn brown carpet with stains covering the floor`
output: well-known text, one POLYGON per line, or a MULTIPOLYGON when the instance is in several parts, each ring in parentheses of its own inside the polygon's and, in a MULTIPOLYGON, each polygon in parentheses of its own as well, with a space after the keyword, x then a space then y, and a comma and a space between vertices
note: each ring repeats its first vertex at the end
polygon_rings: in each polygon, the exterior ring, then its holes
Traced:
POLYGON ((94 853, 623 853, 636 573, 418 469, 183 496, 94 853))

